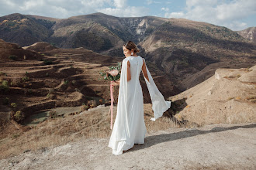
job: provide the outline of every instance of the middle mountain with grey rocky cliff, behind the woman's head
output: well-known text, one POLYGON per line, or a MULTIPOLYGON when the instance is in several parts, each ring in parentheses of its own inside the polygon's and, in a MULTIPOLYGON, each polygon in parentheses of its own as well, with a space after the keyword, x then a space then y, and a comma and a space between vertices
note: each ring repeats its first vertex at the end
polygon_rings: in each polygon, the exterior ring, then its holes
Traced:
POLYGON ((140 42, 167 19, 157 17, 119 18, 102 13, 63 19, 52 28, 47 39, 60 48, 84 47, 97 53, 123 56, 123 44, 140 42))

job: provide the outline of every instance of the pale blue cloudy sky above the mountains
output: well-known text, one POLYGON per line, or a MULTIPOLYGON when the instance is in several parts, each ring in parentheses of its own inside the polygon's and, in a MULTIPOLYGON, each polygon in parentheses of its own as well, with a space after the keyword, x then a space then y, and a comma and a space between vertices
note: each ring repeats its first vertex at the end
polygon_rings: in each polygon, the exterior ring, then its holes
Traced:
POLYGON ((256 26, 256 0, 0 0, 0 16, 21 13, 67 19, 95 12, 183 18, 234 31, 256 26))

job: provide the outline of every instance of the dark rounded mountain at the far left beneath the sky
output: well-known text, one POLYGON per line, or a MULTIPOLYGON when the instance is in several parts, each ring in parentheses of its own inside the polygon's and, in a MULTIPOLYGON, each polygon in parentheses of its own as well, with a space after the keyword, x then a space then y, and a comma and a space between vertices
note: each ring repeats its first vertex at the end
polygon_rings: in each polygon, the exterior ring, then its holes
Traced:
POLYGON ((55 22, 50 20, 36 20, 18 13, 0 17, 0 39, 6 42, 29 46, 40 42, 53 34, 50 29, 55 22))

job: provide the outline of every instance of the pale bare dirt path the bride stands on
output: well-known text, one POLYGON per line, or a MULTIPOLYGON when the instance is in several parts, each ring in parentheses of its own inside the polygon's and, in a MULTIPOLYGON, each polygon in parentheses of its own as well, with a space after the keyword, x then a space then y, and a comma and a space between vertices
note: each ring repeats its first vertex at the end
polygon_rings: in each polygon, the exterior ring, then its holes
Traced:
POLYGON ((212 124, 147 134, 112 155, 109 138, 85 139, 0 160, 2 169, 256 169, 256 124, 212 124))

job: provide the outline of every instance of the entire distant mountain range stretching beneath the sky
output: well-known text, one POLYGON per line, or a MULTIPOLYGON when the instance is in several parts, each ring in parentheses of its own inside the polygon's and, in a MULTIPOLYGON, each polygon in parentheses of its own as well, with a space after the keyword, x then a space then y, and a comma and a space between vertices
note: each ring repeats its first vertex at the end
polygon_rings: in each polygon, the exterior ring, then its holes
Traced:
MULTIPOLYGON (((240 63, 251 63, 252 66, 256 56, 256 45, 237 32, 188 19, 122 18, 102 13, 53 19, 12 14, 0 17, 0 30, 0 38, 20 46, 48 42, 58 48, 83 47, 116 57, 123 56, 123 44, 133 40, 150 70, 164 73, 180 90, 188 88, 182 84, 183 80, 209 64, 227 62, 238 68, 240 63)), ((187 82, 197 84, 203 80, 201 76, 187 82)))

